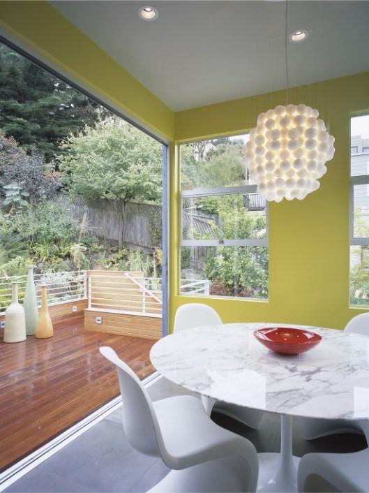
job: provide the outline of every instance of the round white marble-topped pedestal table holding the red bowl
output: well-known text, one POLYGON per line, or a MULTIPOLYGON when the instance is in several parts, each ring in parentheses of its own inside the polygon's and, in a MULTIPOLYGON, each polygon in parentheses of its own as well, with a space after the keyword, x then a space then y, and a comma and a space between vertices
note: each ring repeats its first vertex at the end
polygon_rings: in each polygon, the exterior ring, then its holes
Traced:
MULTIPOLYGON (((279 413, 280 454, 259 454, 257 490, 294 492, 299 457, 292 456, 292 417, 369 420, 369 337, 306 327, 323 339, 311 351, 283 356, 253 331, 285 324, 199 327, 160 339, 153 366, 168 380, 212 399, 279 413)), ((295 325, 296 326, 296 325, 295 325)))

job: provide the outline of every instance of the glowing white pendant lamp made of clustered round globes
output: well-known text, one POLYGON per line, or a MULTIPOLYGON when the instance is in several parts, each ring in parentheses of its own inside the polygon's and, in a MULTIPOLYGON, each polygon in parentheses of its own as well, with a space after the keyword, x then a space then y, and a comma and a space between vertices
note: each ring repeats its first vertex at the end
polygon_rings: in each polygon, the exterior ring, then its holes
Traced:
POLYGON ((278 105, 257 117, 244 155, 250 177, 266 200, 303 200, 319 189, 333 145, 318 110, 278 105))

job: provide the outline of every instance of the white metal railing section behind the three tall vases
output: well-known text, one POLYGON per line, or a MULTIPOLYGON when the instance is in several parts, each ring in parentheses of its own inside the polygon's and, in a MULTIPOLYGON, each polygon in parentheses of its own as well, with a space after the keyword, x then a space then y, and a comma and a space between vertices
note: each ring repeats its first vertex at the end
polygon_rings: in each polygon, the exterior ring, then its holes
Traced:
MULTIPOLYGON (((50 305, 84 300, 87 297, 86 271, 46 272, 34 274, 37 302, 41 304, 41 284, 47 286, 47 301, 50 305)), ((12 282, 18 283, 18 299, 24 302, 27 275, 0 277, 0 313, 5 311, 12 300, 12 282)))

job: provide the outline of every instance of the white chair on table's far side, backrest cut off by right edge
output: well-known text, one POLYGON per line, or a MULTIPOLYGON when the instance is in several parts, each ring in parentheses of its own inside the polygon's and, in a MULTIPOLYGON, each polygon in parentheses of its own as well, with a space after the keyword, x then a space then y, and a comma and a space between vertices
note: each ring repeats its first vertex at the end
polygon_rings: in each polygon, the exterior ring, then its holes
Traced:
MULTIPOLYGON (((369 313, 354 316, 345 327, 345 332, 353 332, 369 336, 369 313)), ((336 433, 363 433, 360 420, 320 420, 315 418, 299 418, 299 427, 306 440, 336 433)))

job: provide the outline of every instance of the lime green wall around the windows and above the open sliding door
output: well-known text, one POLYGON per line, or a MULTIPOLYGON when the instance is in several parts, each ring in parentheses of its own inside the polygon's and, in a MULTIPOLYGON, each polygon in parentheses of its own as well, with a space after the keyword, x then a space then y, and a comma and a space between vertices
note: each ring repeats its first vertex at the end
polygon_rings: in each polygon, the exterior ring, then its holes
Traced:
MULTIPOLYGON (((174 113, 140 82, 42 1, 0 1, 0 30, 170 144, 170 326, 178 295, 179 170, 176 143, 236 134, 259 112, 285 103, 279 91, 174 113)), ((362 310, 349 309, 349 117, 369 112, 369 73, 290 91, 293 103, 321 112, 336 138, 336 156, 321 188, 302 202, 269 208, 269 301, 209 298, 225 322, 279 321, 343 328, 362 310)))

